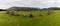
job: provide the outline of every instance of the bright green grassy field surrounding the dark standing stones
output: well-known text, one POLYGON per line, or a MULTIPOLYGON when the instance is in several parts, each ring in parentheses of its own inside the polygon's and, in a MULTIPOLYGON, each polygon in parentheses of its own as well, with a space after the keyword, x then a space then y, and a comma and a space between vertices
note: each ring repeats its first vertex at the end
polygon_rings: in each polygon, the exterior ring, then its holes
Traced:
POLYGON ((52 10, 50 15, 47 15, 47 11, 32 11, 33 18, 22 16, 23 14, 29 15, 29 11, 16 13, 20 16, 0 11, 0 26, 60 26, 60 10, 52 10), (43 16, 39 16, 40 13, 43 16))

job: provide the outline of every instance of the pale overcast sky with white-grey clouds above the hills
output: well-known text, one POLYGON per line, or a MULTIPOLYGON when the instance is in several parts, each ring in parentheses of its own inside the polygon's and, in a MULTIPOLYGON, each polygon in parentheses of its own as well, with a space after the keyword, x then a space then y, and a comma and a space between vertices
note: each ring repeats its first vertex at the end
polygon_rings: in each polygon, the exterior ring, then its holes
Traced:
POLYGON ((60 7, 60 0, 0 0, 0 9, 7 9, 12 6, 18 7, 60 7))

